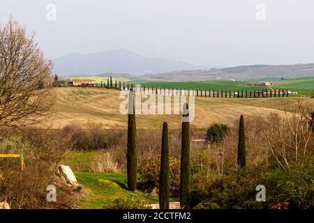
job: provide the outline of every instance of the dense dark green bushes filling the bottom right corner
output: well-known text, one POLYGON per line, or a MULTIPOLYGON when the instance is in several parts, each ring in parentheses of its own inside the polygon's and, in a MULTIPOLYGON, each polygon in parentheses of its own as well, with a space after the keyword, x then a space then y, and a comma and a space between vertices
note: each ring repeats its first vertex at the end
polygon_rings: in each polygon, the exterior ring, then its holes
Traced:
POLYGON ((260 167, 241 169, 221 176, 194 190, 194 208, 314 208, 314 157, 304 165, 290 163, 290 169, 281 167, 263 172, 260 167), (257 185, 266 187, 266 201, 255 200, 257 185))

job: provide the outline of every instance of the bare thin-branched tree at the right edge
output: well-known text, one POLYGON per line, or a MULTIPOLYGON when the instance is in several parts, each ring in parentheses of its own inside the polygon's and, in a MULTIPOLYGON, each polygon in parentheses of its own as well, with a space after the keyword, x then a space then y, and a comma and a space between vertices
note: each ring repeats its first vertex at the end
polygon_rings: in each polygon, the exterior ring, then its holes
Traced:
POLYGON ((285 116, 271 114, 269 117, 267 141, 271 153, 283 169, 289 169, 292 161, 303 165, 308 150, 313 150, 311 144, 313 123, 308 122, 311 109, 311 106, 302 105, 301 100, 297 106, 285 102, 283 103, 285 116))

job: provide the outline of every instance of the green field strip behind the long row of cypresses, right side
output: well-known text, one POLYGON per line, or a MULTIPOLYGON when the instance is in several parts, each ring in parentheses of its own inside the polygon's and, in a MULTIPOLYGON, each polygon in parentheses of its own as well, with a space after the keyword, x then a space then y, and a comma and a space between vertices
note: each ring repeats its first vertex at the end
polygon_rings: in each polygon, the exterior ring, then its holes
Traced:
POLYGON ((259 79, 248 81, 227 81, 216 80, 206 82, 139 82, 143 87, 166 88, 166 89, 198 89, 198 90, 225 90, 225 89, 244 89, 253 91, 257 89, 288 89, 297 91, 299 95, 311 95, 314 91, 314 77, 302 77, 297 79, 259 79), (273 86, 246 86, 248 83, 271 82, 273 86))

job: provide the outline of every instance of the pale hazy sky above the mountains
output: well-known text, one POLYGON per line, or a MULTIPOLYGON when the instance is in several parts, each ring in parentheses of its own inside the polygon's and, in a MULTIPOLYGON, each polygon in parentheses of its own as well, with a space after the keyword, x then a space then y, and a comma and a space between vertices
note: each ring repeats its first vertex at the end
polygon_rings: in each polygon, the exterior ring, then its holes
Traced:
POLYGON ((313 0, 0 0, 0 6, 1 23, 12 14, 35 30, 50 59, 124 48, 204 66, 314 62, 313 0))

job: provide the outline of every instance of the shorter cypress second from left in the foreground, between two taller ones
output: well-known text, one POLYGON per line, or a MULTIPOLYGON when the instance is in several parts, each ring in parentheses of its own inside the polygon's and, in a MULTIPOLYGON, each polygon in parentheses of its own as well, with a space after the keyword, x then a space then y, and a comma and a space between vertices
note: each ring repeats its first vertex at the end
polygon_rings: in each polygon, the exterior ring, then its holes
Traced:
POLYGON ((159 207, 160 209, 169 209, 169 189, 170 171, 169 171, 169 144, 168 144, 168 125, 163 123, 163 138, 161 140, 161 158, 160 158, 160 179, 159 179, 159 207))

